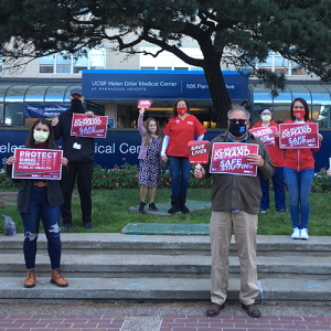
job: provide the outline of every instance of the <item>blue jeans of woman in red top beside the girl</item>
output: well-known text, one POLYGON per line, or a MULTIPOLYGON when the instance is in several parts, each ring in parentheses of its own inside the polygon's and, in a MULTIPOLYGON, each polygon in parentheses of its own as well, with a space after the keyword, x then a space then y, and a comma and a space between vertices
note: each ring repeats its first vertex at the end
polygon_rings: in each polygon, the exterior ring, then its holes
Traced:
POLYGON ((168 157, 172 195, 186 195, 192 164, 189 158, 168 157))

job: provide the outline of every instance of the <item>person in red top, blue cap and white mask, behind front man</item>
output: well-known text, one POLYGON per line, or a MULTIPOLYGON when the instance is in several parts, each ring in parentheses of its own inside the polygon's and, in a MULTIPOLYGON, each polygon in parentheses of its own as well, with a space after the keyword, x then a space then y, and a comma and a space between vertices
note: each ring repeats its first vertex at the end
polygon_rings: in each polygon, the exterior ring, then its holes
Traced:
MULTIPOLYGON (((255 128, 269 128, 276 127, 276 131, 279 131, 279 125, 273 120, 271 110, 268 107, 260 109, 260 121, 257 122, 252 129, 255 128)), ((276 138, 276 140, 279 138, 276 138)), ((284 150, 279 149, 278 143, 267 145, 269 156, 276 167, 275 174, 273 175, 273 185, 275 191, 275 205, 278 213, 282 214, 286 210, 285 197, 285 181, 284 181, 284 150)), ((260 212, 265 213, 269 209, 269 180, 264 180, 260 177, 260 188, 263 191, 263 197, 260 200, 260 212)))

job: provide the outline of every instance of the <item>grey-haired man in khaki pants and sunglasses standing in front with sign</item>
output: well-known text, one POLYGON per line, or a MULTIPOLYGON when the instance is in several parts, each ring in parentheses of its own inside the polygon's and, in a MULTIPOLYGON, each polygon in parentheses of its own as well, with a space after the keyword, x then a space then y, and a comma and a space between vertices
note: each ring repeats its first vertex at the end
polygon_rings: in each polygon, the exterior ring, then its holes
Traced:
MULTIPOLYGON (((257 173, 268 180, 275 173, 275 167, 266 146, 250 132, 250 114, 239 105, 233 105, 227 113, 228 129, 211 141, 210 161, 204 166, 195 166, 194 175, 206 179, 213 175, 212 217, 210 223, 210 238, 212 250, 212 305, 207 308, 206 316, 215 317, 225 308, 226 290, 228 287, 228 248, 232 228, 241 261, 241 295, 243 309, 248 316, 259 318, 260 312, 255 300, 258 296, 257 267, 256 267, 256 232, 261 199, 260 181, 258 175, 234 174, 232 168, 238 164, 244 157, 248 166, 257 167, 257 173), (233 145, 233 148, 220 149, 217 154, 214 145, 233 145), (258 147, 258 153, 246 153, 247 145, 258 147), (242 148, 245 147, 245 148, 242 148), (213 153, 214 152, 214 153, 213 153), (214 154, 214 159, 212 156, 214 154), (244 154, 244 157, 243 157, 244 154), (213 172, 212 163, 218 156, 227 156, 233 166, 228 173, 225 170, 213 172), (235 160, 235 162, 232 162, 235 160)), ((221 161, 222 162, 222 161, 221 161)), ((217 163, 217 162, 216 162, 217 163)), ((220 163, 220 161, 218 161, 220 163)), ((246 167, 246 164, 245 164, 246 167)))

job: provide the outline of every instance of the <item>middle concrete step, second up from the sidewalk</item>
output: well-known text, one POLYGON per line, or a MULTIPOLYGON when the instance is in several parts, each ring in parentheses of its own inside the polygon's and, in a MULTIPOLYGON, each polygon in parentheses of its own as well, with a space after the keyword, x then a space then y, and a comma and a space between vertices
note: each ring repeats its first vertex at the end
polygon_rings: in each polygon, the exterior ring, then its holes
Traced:
MULTIPOLYGON (((209 277, 211 274, 210 256, 193 255, 89 255, 63 254, 61 268, 67 277, 209 277)), ((1 275, 14 276, 24 273, 23 254, 0 254, 1 275)), ((50 271, 50 258, 45 253, 36 255, 36 270, 50 271)), ((258 256, 259 276, 273 275, 330 275, 331 259, 324 256, 258 256)), ((229 273, 239 274, 237 256, 229 256, 229 273)))

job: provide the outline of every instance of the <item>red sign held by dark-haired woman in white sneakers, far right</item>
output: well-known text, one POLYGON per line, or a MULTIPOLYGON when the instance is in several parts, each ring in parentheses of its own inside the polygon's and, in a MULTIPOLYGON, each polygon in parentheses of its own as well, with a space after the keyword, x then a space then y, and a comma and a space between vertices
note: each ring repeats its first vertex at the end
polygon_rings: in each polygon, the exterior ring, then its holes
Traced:
POLYGON ((317 122, 280 124, 279 148, 318 148, 319 128, 317 122))

